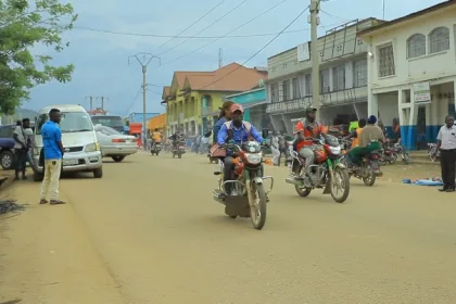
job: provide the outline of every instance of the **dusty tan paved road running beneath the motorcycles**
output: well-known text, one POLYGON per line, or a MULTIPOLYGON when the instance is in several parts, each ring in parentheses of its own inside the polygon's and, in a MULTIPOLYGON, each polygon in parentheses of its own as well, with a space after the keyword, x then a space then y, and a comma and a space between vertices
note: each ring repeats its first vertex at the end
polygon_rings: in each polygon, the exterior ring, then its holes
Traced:
POLYGON ((62 227, 50 244, 63 235, 88 240, 93 254, 71 255, 73 267, 91 265, 77 268, 78 280, 104 267, 91 299, 72 303, 456 303, 454 194, 353 181, 337 204, 318 192, 299 198, 282 181, 287 172, 268 167, 276 188, 257 231, 213 202, 213 168, 203 156, 140 153, 106 163, 103 179, 64 179, 68 205, 35 206, 62 227))

